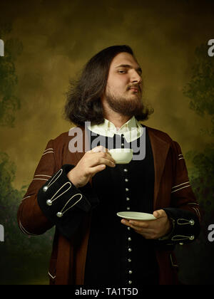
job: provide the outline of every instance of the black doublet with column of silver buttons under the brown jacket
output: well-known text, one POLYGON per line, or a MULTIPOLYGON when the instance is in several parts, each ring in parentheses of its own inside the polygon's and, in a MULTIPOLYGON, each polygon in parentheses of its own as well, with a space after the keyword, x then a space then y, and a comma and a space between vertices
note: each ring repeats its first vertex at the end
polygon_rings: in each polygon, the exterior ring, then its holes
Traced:
MULTIPOLYGON (((118 137, 108 137, 112 142, 108 149, 115 148, 118 137)), ((91 136, 91 142, 95 138, 91 136)), ((132 147, 132 142, 126 142, 123 135, 119 138, 121 147, 132 147)), ((107 137, 103 137, 101 145, 107 147, 106 141, 107 137)), ((85 285, 157 284, 158 265, 153 241, 128 229, 116 215, 118 211, 153 213, 154 162, 147 132, 145 159, 106 167, 93 177, 93 189, 99 204, 92 214, 85 285)))

